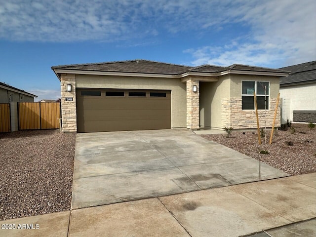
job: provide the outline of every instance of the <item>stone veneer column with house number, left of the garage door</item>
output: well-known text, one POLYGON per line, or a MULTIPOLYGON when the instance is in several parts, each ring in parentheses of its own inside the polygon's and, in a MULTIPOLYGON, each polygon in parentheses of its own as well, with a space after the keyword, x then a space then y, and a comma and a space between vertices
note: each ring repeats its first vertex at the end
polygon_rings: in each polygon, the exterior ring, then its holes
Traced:
POLYGON ((63 132, 77 132, 76 75, 62 74, 60 86, 63 132), (72 91, 67 91, 67 84, 72 85, 72 91), (66 101, 66 97, 73 98, 73 101, 66 101))

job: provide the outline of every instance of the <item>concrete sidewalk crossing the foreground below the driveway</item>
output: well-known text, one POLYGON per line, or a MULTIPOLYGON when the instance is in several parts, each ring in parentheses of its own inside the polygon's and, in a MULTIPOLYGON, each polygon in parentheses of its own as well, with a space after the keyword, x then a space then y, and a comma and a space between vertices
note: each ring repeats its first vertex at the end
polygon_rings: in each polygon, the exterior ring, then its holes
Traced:
POLYGON ((316 173, 1 221, 16 229, 0 236, 307 237, 313 218, 316 173))

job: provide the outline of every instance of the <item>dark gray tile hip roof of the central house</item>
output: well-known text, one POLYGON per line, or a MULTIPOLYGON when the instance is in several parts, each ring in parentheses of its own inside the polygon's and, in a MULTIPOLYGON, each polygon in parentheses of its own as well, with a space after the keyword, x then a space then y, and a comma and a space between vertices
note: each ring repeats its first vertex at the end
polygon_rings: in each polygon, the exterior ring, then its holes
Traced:
POLYGON ((165 75, 181 75, 185 72, 198 73, 217 73, 230 71, 252 71, 252 72, 271 72, 286 73, 284 70, 262 68, 256 66, 248 66, 234 64, 229 67, 221 67, 214 65, 201 65, 190 67, 177 64, 161 63, 149 60, 130 60, 118 62, 89 63, 89 64, 72 64, 51 67, 52 70, 80 70, 80 71, 99 71, 99 72, 121 72, 121 73, 150 73, 165 75))

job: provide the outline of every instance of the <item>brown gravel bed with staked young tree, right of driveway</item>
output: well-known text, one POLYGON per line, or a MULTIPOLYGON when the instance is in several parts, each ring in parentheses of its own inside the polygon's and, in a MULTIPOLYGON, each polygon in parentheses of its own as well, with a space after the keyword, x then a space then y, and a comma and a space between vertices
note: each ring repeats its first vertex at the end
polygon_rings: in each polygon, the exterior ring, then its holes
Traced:
POLYGON ((294 134, 291 133, 290 128, 287 131, 279 130, 277 135, 274 134, 271 145, 269 145, 271 130, 267 130, 266 144, 262 138, 262 145, 258 144, 257 131, 246 131, 242 134, 241 131, 233 130, 229 138, 226 134, 201 136, 249 157, 260 159, 290 175, 316 172, 316 128, 311 130, 307 124, 292 124, 291 127, 296 130, 294 134), (293 146, 288 146, 286 142, 292 142, 293 146), (259 154, 261 150, 268 150, 270 154, 259 154))

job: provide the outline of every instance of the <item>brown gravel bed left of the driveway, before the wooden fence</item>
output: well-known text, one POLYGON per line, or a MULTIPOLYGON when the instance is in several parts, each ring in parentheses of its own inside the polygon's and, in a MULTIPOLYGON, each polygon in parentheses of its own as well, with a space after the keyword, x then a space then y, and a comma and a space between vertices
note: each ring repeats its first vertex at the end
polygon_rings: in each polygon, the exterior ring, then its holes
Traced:
POLYGON ((70 210, 75 133, 0 133, 0 220, 70 210))

